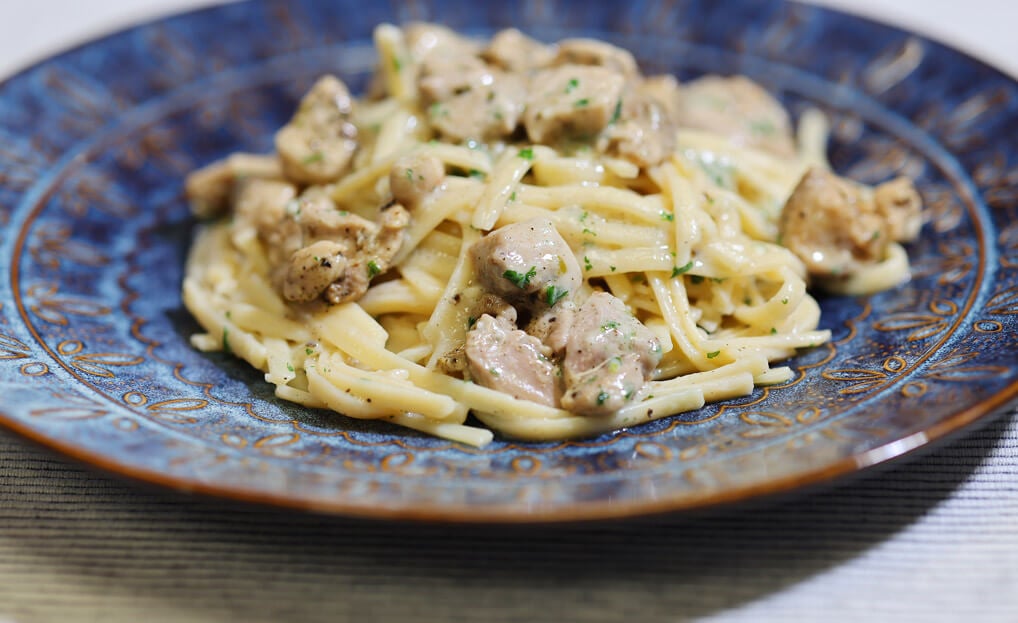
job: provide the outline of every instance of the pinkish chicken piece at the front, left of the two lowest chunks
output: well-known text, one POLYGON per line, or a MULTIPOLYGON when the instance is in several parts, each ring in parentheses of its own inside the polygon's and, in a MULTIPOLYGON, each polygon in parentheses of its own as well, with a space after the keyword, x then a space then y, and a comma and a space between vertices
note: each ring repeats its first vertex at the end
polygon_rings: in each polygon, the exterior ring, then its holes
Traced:
POLYGON ((538 338, 506 318, 484 315, 466 333, 466 360, 474 383, 513 398, 555 406, 555 365, 538 338))

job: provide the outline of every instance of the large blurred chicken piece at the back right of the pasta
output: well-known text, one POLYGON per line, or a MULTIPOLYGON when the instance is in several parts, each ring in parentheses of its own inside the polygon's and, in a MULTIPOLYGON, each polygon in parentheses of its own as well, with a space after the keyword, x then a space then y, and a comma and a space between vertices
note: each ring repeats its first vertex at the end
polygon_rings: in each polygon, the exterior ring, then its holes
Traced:
POLYGON ((681 90, 678 122, 682 127, 708 130, 736 145, 795 156, 788 113, 759 84, 742 75, 708 75, 681 90))

